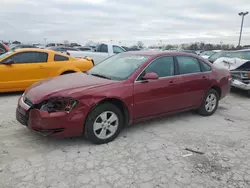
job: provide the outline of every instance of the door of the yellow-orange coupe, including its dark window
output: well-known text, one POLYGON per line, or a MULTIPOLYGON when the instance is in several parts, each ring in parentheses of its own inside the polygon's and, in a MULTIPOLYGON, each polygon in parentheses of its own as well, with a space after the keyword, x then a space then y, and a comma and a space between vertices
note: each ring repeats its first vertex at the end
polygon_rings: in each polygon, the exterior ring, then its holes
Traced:
POLYGON ((48 77, 47 53, 20 52, 0 62, 0 90, 24 90, 33 83, 48 77), (12 59, 11 64, 4 64, 12 59))

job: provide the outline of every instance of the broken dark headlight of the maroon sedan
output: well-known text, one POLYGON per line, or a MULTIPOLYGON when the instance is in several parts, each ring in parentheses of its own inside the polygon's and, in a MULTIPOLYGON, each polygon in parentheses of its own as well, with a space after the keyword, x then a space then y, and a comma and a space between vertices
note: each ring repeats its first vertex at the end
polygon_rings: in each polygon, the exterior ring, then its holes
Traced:
POLYGON ((78 101, 71 97, 53 97, 40 104, 41 111, 53 112, 70 112, 78 101))

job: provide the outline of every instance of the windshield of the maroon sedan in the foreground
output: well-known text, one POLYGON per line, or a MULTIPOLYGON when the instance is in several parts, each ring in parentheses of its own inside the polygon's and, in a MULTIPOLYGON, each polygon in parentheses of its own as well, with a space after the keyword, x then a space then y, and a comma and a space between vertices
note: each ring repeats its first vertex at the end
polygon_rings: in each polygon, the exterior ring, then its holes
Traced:
POLYGON ((112 80, 126 80, 141 67, 149 57, 150 56, 124 53, 118 54, 102 61, 87 73, 112 80))

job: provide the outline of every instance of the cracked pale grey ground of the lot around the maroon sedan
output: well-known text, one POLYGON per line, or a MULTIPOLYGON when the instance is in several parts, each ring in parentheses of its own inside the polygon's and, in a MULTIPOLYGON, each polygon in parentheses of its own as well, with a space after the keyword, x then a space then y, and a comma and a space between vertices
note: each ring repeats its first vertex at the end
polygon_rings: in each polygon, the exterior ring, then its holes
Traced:
POLYGON ((99 146, 30 132, 15 120, 19 95, 0 96, 1 188, 250 187, 250 99, 239 92, 211 117, 144 122, 99 146))

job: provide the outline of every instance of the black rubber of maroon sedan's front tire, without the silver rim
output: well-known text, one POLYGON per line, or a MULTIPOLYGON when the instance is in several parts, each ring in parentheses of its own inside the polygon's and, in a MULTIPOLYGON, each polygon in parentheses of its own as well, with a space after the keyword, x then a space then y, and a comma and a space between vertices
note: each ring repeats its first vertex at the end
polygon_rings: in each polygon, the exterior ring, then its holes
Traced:
POLYGON ((84 131, 85 137, 94 144, 105 144, 105 143, 111 142, 120 134, 121 129, 123 128, 123 125, 124 125, 124 117, 120 109, 111 103, 103 103, 95 107, 88 115, 86 123, 85 123, 85 131, 84 131), (112 135, 110 138, 99 139, 98 137, 96 137, 94 133, 93 125, 94 125, 96 118, 105 111, 111 111, 117 115, 119 119, 118 129, 116 133, 112 135))

